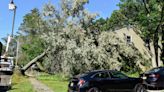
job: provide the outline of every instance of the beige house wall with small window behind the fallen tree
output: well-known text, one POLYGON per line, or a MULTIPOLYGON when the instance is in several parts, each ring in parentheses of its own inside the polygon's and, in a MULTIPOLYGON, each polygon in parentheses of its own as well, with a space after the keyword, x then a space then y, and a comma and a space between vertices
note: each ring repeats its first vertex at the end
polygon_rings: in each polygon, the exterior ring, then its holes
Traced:
MULTIPOLYGON (((154 54, 154 46, 153 43, 150 43, 150 49, 146 46, 145 42, 139 35, 139 31, 135 30, 134 28, 122 28, 119 30, 116 30, 115 33, 123 40, 126 41, 127 44, 134 45, 141 54, 146 59, 151 59, 152 61, 152 67, 156 67, 155 62, 155 54, 154 54)), ((162 65, 162 62, 160 61, 160 53, 159 51, 159 66, 162 65)))

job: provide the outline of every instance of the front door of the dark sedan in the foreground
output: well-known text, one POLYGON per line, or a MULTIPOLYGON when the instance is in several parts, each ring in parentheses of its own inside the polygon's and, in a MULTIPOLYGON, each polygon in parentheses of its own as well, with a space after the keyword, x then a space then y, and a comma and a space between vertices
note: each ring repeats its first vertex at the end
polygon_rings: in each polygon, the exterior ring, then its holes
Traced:
POLYGON ((129 77, 118 71, 110 72, 113 80, 113 89, 116 91, 129 91, 131 90, 131 81, 129 77))

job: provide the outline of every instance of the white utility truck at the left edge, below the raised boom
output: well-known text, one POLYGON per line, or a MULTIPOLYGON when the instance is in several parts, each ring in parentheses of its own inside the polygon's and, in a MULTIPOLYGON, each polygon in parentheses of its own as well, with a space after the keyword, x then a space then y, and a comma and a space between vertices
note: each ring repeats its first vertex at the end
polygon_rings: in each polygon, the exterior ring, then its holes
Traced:
POLYGON ((0 88, 11 87, 11 76, 13 74, 13 57, 1 57, 0 59, 0 88))

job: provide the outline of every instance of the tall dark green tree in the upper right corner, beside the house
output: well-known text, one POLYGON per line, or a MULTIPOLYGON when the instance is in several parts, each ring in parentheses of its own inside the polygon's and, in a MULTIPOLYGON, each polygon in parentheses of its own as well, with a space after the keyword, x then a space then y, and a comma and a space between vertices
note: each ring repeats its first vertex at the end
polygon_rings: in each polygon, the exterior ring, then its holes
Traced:
MULTIPOLYGON (((163 23, 163 0, 121 0, 120 11, 134 26, 139 26, 143 39, 153 41, 155 61, 158 64, 159 35, 163 23)), ((162 46, 163 48, 164 46, 162 46)))

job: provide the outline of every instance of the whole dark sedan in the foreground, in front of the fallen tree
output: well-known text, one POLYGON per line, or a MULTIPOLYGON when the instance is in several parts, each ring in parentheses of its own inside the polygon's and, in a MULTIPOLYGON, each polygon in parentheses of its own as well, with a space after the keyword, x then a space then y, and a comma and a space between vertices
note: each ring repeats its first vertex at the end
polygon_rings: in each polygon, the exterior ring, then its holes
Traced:
POLYGON ((131 78, 115 70, 96 70, 73 77, 68 92, 145 92, 141 78, 131 78))

